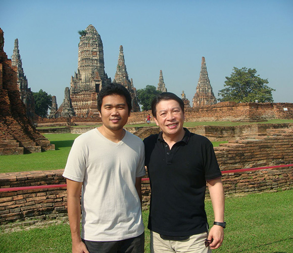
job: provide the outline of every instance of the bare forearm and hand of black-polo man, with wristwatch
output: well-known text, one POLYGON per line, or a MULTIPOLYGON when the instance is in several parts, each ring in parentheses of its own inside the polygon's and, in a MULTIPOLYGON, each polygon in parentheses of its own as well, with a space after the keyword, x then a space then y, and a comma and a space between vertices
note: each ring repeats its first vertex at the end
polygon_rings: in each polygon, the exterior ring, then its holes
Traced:
MULTIPOLYGON (((224 222, 225 194, 221 178, 208 181, 210 197, 212 200, 215 221, 224 222)), ((224 229, 221 226, 214 225, 209 232, 208 239, 213 242, 211 249, 216 249, 222 245, 224 239, 224 229)))

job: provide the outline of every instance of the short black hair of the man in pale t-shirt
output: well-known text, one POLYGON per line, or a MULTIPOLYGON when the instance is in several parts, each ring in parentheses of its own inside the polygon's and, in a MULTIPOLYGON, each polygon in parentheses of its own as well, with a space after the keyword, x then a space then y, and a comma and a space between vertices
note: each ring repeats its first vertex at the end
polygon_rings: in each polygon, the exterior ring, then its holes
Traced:
POLYGON ((110 95, 124 96, 128 106, 128 112, 130 113, 132 109, 130 93, 123 85, 116 84, 116 83, 111 83, 106 85, 99 92, 99 95, 97 96, 97 109, 100 111, 100 113, 101 113, 103 98, 110 95))

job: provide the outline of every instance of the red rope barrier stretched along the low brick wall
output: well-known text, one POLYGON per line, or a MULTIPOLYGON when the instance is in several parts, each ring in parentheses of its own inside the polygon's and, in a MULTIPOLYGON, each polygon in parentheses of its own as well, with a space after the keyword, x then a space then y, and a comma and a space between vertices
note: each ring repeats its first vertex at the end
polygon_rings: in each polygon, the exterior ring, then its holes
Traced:
MULTIPOLYGON (((222 173, 223 174, 236 173, 236 172, 254 171, 254 170, 261 170, 261 169, 273 169, 273 168, 282 168, 282 167, 293 167, 293 164, 258 167, 258 168, 247 168, 247 169, 223 170, 222 173)), ((149 177, 141 178, 141 181, 148 181, 148 180, 150 180, 149 177)), ((63 188, 63 187, 66 187, 66 184, 34 185, 34 186, 23 186, 23 187, 0 188, 0 192, 16 192, 16 191, 24 191, 29 189, 63 188)))

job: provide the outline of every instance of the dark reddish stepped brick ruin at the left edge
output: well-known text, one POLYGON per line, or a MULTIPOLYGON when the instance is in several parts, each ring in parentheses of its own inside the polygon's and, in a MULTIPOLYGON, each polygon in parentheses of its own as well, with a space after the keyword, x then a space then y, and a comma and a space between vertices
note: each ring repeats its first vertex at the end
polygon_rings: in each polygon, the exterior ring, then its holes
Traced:
POLYGON ((4 32, 0 28, 0 155, 55 150, 26 116, 20 99, 17 67, 4 52, 4 32))

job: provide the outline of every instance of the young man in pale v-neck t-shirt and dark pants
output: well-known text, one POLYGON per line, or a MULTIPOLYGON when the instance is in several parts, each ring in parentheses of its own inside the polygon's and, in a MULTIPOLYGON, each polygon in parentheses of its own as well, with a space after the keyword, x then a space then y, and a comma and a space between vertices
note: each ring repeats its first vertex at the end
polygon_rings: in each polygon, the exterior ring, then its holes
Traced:
POLYGON ((143 253, 144 146, 123 129, 130 115, 130 94, 120 84, 107 85, 97 107, 103 125, 75 139, 63 174, 72 252, 143 253))

